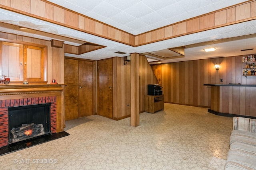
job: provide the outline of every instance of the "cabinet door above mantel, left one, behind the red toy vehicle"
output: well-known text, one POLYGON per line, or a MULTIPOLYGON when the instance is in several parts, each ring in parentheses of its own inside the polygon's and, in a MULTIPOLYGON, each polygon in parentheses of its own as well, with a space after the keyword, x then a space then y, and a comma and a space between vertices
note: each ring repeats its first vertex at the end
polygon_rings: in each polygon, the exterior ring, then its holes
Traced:
POLYGON ((23 80, 23 45, 0 41, 0 75, 11 81, 23 80))

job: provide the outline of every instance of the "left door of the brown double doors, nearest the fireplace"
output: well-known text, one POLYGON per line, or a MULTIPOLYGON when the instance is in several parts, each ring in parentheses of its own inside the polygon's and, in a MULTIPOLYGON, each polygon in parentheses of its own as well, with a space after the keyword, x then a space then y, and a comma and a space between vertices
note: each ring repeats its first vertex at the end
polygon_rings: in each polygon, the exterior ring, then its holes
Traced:
POLYGON ((65 59, 65 121, 78 118, 78 60, 65 59))

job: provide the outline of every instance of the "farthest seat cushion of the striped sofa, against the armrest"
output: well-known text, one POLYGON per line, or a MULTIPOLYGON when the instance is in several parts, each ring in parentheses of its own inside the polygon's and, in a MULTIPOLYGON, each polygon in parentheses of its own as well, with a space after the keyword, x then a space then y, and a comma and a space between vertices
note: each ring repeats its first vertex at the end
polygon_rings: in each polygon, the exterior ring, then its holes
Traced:
POLYGON ((232 143, 246 143, 256 147, 256 133, 233 130, 230 136, 230 146, 232 143))

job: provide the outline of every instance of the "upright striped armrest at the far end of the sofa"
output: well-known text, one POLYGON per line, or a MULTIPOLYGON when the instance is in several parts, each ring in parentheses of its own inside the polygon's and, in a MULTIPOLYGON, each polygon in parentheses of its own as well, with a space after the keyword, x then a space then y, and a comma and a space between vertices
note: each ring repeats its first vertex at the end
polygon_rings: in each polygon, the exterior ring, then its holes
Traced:
POLYGON ((233 117, 233 130, 256 133, 256 119, 233 117))

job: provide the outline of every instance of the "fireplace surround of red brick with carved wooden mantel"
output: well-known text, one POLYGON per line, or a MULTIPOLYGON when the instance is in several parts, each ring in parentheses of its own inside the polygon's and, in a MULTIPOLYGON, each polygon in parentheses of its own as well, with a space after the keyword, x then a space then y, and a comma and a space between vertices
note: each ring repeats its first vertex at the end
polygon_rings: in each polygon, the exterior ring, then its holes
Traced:
POLYGON ((0 149, 9 145, 8 107, 50 105, 50 133, 64 131, 64 86, 61 84, 0 85, 0 149))

